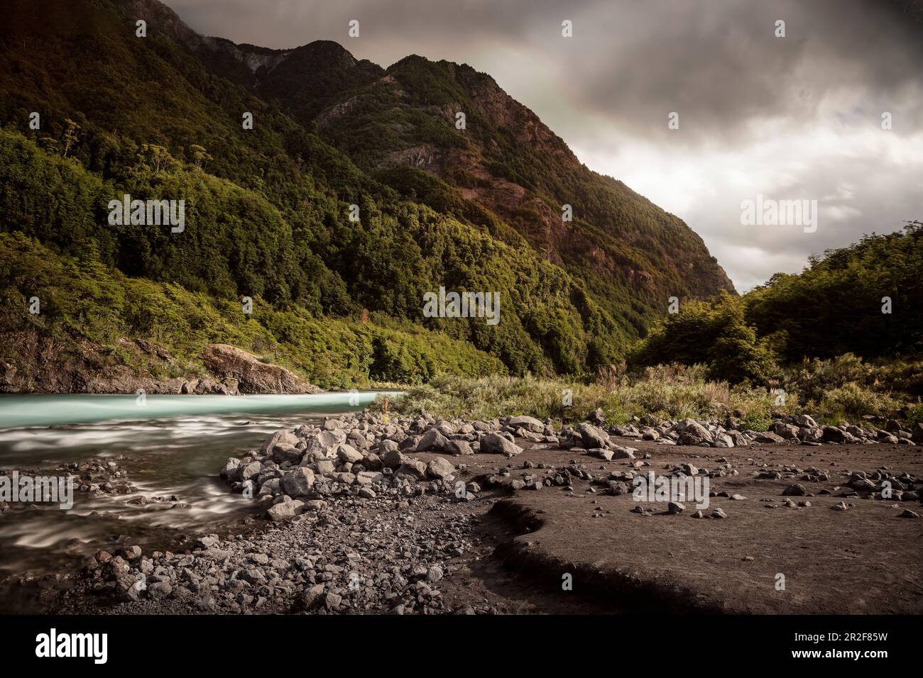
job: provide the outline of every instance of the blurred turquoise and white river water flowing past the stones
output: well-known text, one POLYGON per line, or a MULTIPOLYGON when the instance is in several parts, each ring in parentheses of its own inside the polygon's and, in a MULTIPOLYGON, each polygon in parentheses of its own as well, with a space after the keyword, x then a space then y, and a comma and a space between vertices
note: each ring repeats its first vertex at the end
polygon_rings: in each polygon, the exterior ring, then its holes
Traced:
MULTIPOLYGON (((72 572, 82 557, 115 548, 126 535, 148 551, 167 548, 186 530, 230 526, 255 509, 218 476, 228 457, 258 448, 279 429, 361 410, 377 395, 148 396, 143 402, 135 396, 0 396, 0 470, 63 475, 56 470, 63 463, 110 458, 134 485, 131 494, 75 492, 69 510, 14 506, 0 514, 0 576, 72 572), (139 494, 168 500, 127 503, 139 494)), ((25 603, 10 590, 0 592, 0 608, 18 604, 25 603)))

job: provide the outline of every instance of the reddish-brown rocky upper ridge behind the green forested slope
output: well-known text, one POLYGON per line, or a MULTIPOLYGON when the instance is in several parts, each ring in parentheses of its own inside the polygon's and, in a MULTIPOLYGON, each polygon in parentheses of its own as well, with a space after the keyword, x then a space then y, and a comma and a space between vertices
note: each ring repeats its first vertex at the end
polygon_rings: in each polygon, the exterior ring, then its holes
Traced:
MULTIPOLYGON (((152 13, 159 6, 138 2, 152 13)), ((317 125, 364 169, 397 170, 378 178, 398 191, 435 208, 447 192, 476 205, 462 211, 484 208, 594 287, 658 305, 664 294, 705 298, 734 289, 682 220, 588 169, 533 111, 469 65, 414 54, 384 69, 337 42, 270 50, 174 34, 217 74, 317 125), (426 179, 414 170, 441 185, 421 191, 426 179), (562 219, 564 205, 572 220, 562 219)))

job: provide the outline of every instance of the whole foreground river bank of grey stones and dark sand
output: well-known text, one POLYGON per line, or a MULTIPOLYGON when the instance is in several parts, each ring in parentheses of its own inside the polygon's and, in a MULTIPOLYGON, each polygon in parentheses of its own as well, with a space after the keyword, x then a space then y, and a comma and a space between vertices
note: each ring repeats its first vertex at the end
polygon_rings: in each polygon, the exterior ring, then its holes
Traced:
POLYGON ((909 438, 876 443, 877 431, 844 426, 834 443, 827 428, 782 418, 777 430, 802 437, 758 442, 760 432, 704 420, 552 424, 363 414, 277 431, 223 465, 258 517, 203 532, 183 552, 126 544, 96 553, 68 590, 49 587, 46 604, 100 613, 923 609, 910 585, 921 574, 923 466, 909 438), (634 479, 648 473, 707 479, 704 510, 636 500, 634 479))

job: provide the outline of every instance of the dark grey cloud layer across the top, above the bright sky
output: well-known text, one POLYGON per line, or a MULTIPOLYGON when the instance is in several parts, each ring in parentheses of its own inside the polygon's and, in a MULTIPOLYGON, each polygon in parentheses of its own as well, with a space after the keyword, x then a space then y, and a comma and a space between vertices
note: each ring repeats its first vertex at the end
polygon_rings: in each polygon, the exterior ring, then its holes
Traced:
POLYGON ((673 135, 674 143, 732 143, 738 135, 758 134, 749 128, 753 118, 809 119, 825 92, 846 86, 866 94, 862 105, 869 110, 857 110, 856 118, 897 106, 923 124, 921 102, 904 91, 918 83, 919 24, 901 18, 893 8, 899 3, 882 0, 168 4, 194 29, 238 42, 294 47, 329 39, 382 65, 406 54, 444 58, 440 52, 468 51, 481 62, 469 63, 494 72, 498 64, 491 62, 503 55, 492 59, 491 46, 550 54, 562 60, 557 76, 576 81, 581 111, 655 138, 670 134, 666 114, 677 111, 682 134, 673 135), (346 37, 351 18, 362 25, 358 40, 346 37), (571 41, 560 39, 562 18, 574 21, 571 41), (785 38, 773 35, 776 19, 785 20, 785 38))

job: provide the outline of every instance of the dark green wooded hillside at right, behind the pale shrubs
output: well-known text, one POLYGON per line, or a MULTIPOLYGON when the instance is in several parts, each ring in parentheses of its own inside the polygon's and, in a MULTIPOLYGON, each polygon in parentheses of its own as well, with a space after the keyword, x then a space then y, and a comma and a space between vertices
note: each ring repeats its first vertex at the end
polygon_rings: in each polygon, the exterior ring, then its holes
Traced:
POLYGON ((811 257, 801 273, 777 273, 742 298, 682 303, 635 347, 631 362, 702 363, 713 377, 765 382, 780 365, 806 359, 917 358, 920 299, 923 223, 914 221, 811 257))

